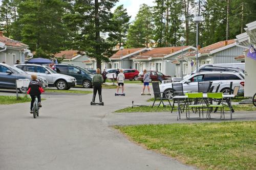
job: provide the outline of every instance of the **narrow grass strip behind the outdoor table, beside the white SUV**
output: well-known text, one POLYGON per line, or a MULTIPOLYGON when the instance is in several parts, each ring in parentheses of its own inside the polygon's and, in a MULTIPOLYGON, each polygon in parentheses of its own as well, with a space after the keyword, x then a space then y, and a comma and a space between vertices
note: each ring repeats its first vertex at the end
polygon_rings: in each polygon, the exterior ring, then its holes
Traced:
MULTIPOLYGON (((171 103, 172 104, 172 103, 171 103)), ((252 104, 248 105, 233 105, 232 106, 234 111, 256 111, 256 107, 254 107, 252 104)), ((175 106, 175 109, 177 106, 175 106)), ((182 107, 183 108, 183 107, 182 107)), ((172 108, 170 106, 166 107, 158 107, 158 103, 156 106, 151 108, 151 106, 136 106, 136 107, 126 107, 120 110, 116 110, 116 113, 133 113, 133 112, 168 112, 172 108)), ((229 107, 225 106, 224 108, 225 111, 229 111, 229 107)), ((174 110, 175 112, 177 110, 174 110)), ((205 110, 206 111, 206 110, 205 110)))

